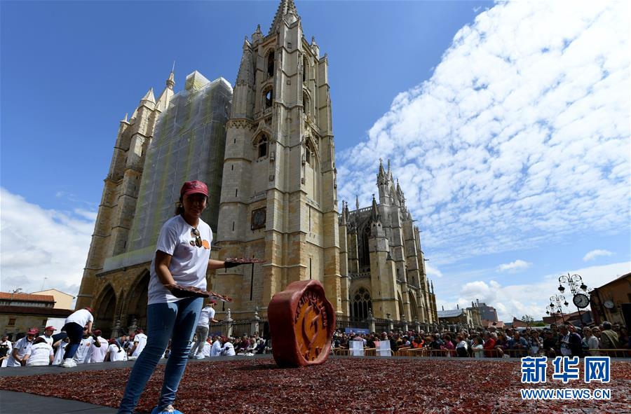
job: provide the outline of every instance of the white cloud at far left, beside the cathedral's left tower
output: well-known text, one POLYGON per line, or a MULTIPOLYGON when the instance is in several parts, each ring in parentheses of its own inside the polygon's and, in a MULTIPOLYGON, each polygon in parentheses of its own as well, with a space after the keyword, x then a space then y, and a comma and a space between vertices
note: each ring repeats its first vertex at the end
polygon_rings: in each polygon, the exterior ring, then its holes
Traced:
POLYGON ((0 211, 0 289, 29 293, 43 287, 76 295, 94 214, 42 209, 5 188, 0 188, 0 211))

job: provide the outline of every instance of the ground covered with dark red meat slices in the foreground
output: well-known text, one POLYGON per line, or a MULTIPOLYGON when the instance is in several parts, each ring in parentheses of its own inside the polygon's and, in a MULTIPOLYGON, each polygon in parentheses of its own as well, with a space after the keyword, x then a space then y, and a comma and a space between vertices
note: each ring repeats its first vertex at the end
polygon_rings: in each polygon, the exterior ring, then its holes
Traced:
MULTIPOLYGON (((581 366, 583 364, 581 363, 581 366)), ((117 407, 130 368, 0 378, 2 389, 117 407)), ((137 408, 156 404, 164 366, 137 408)), ((581 368, 582 375, 582 368, 581 368)), ((581 376, 582 378, 582 376, 581 376)), ((175 407, 201 413, 629 413, 631 362, 612 361, 611 382, 520 382, 520 361, 330 359, 281 369, 270 359, 189 364, 175 407), (609 388, 611 401, 522 401, 521 388, 609 388)))

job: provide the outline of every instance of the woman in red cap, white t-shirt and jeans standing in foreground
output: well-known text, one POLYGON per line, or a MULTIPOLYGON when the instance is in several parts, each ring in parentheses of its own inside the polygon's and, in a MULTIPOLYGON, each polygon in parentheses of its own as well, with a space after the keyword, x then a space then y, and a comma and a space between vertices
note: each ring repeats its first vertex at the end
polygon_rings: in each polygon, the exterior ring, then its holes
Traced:
POLYGON ((191 339, 203 305, 203 298, 182 297, 179 287, 206 289, 206 270, 231 268, 210 258, 212 230, 201 219, 208 201, 208 187, 201 181, 187 181, 180 190, 179 206, 160 230, 156 255, 151 262, 147 304, 149 339, 136 360, 118 408, 119 414, 133 413, 140 394, 171 340, 171 352, 164 370, 158 406, 151 414, 180 413, 172 404, 188 361, 191 339))

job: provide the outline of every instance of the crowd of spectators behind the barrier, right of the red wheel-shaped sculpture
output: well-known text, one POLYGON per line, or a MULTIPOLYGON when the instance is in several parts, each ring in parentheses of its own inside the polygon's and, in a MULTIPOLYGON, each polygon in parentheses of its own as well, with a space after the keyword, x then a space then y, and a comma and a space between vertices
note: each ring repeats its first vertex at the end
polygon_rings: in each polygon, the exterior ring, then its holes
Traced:
POLYGON ((469 329, 455 333, 390 331, 381 334, 354 334, 338 330, 333 336, 333 352, 350 349, 351 341, 362 341, 365 349, 376 348, 378 343, 386 341, 393 354, 400 350, 418 349, 435 357, 631 357, 631 352, 625 352, 631 350, 627 327, 612 325, 609 322, 603 322, 599 326, 585 326, 582 329, 571 324, 552 324, 545 329, 498 329, 496 326, 489 326, 488 329, 469 329))

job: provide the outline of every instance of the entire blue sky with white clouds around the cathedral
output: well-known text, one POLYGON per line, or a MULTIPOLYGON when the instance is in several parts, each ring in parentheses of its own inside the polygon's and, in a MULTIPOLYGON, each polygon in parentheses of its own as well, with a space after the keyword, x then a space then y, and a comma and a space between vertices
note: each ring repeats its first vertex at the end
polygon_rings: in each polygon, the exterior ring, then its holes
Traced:
MULTIPOLYGON (((78 290, 118 120, 173 60, 176 90, 233 82, 277 6, 0 3, 1 289, 78 290)), ((439 306, 540 317, 562 272, 631 271, 625 3, 297 8, 329 56, 339 198, 368 205, 392 160, 439 306)))

